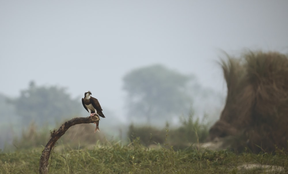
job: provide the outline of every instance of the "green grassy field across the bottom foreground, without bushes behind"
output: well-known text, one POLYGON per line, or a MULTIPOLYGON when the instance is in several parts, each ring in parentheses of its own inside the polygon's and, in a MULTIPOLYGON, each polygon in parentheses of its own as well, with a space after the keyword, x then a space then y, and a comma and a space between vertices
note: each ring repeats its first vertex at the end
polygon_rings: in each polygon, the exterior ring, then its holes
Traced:
MULTIPOLYGON (((0 173, 38 173, 42 150, 1 152, 0 173)), ((282 152, 236 154, 195 147, 175 151, 165 144, 151 149, 135 139, 126 145, 97 143, 89 149, 58 144, 49 162, 49 173, 288 173, 287 159, 282 152)))

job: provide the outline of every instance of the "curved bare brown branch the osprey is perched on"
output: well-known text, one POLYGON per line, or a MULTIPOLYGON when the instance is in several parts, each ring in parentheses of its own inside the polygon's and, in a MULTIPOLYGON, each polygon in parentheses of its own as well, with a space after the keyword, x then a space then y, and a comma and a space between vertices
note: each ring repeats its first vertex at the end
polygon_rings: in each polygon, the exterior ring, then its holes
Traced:
POLYGON ((78 117, 73 118, 72 120, 69 120, 62 124, 62 126, 56 131, 53 130, 51 133, 51 138, 46 144, 44 150, 42 151, 42 155, 40 157, 39 161, 39 174, 47 174, 48 173, 48 161, 50 158, 50 153, 52 148, 54 147, 56 141, 65 134, 65 132, 75 124, 82 124, 82 123, 94 123, 99 121, 98 116, 92 116, 92 117, 78 117))

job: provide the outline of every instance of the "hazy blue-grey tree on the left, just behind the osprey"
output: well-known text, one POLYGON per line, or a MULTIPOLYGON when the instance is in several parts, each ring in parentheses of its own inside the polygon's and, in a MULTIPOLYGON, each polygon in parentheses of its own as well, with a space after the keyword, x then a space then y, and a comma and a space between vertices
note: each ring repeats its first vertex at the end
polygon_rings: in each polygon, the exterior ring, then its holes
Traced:
POLYGON ((7 101, 15 106, 25 125, 32 120, 39 125, 53 124, 63 117, 80 114, 83 107, 78 100, 71 99, 65 88, 36 86, 33 81, 21 91, 20 97, 7 101))

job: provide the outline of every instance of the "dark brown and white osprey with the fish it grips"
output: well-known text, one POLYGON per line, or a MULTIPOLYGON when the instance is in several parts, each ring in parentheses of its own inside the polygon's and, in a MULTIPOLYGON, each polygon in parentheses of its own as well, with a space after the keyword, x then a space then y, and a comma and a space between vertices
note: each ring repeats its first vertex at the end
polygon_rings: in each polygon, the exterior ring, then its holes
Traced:
MULTIPOLYGON (((101 116, 103 118, 105 118, 104 114, 102 113, 102 108, 98 102, 97 99, 95 99, 94 97, 91 97, 92 93, 90 91, 87 91, 84 93, 84 98, 82 98, 82 104, 84 106, 84 108, 90 113, 90 116, 94 116, 95 114, 97 114, 97 116, 101 116)), ((97 122, 94 122, 94 124, 96 124, 96 130, 99 131, 99 120, 97 122)))

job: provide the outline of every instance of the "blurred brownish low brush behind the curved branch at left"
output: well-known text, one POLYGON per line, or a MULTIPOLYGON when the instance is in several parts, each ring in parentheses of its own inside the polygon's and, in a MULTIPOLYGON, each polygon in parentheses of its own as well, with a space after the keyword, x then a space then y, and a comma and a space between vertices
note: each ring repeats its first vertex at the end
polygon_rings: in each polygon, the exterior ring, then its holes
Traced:
MULTIPOLYGON (((61 122, 61 124, 64 122, 61 122)), ((56 126, 57 130, 61 124, 56 126)), ((71 126, 57 141, 56 146, 61 147, 63 144, 66 148, 78 149, 79 143, 80 147, 87 147, 96 144, 97 141, 100 143, 104 142, 105 134, 103 131, 101 133, 94 133, 94 130, 95 124, 77 124, 71 126)), ((13 146, 10 144, 5 145, 4 151, 43 148, 50 139, 51 131, 48 124, 38 127, 35 122, 31 122, 27 129, 22 130, 19 136, 13 138, 13 146)))

